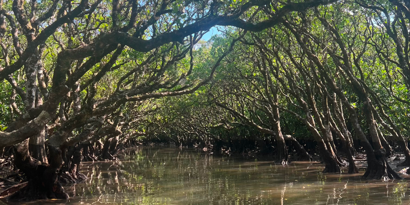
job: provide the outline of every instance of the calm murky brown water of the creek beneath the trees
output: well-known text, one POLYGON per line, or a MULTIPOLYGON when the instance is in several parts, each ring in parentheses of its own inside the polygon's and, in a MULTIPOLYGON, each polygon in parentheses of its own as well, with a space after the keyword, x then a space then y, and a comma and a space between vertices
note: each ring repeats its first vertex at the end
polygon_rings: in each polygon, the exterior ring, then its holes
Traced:
POLYGON ((405 181, 321 174, 314 162, 205 155, 165 147, 126 150, 117 162, 87 162, 84 183, 67 187, 67 204, 409 204, 405 181))

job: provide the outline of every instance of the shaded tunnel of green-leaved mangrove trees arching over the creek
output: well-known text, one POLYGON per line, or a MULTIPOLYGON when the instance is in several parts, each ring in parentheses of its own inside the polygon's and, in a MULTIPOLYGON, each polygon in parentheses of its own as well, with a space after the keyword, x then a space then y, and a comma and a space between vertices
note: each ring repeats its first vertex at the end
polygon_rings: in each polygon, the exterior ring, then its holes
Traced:
POLYGON ((400 179, 409 32, 407 0, 2 0, 8 197, 68 198, 81 161, 148 142, 400 179))

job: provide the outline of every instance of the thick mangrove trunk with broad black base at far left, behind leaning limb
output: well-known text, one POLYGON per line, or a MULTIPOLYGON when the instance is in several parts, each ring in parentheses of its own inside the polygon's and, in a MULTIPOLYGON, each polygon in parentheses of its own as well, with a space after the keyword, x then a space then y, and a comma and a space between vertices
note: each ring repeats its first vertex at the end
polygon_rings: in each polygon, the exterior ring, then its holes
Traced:
MULTIPOLYGON (((37 87, 37 72, 42 69, 41 52, 41 50, 35 49, 25 64, 27 81, 24 103, 26 111, 43 104, 42 95, 37 87)), ((27 176, 28 183, 26 187, 11 195, 11 199, 68 198, 68 194, 57 180, 58 171, 63 164, 61 150, 49 146, 50 157, 47 159, 44 147, 45 136, 44 128, 39 134, 14 146, 14 164, 27 176)))

